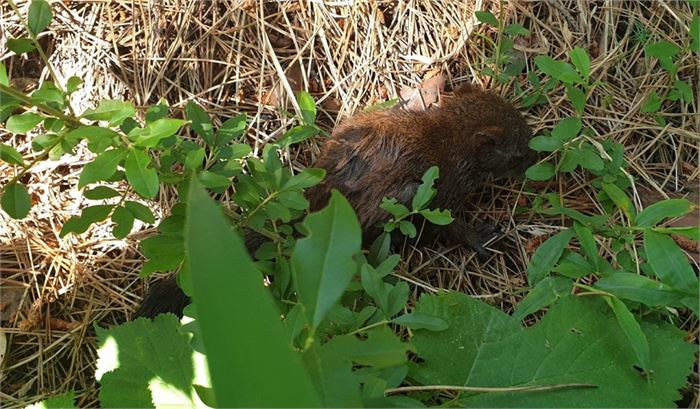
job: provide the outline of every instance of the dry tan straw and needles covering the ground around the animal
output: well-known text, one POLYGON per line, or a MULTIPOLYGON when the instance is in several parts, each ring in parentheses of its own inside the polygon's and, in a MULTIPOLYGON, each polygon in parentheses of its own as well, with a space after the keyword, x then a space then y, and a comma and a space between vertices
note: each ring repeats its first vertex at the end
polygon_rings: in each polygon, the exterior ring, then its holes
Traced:
MULTIPOLYGON (((476 25, 472 14, 497 8, 481 3, 64 0, 52 2, 54 22, 41 43, 59 75, 83 78, 85 85, 73 98, 76 111, 102 98, 128 98, 139 106, 166 98, 175 110, 195 99, 218 121, 247 113, 247 140, 257 152, 284 132, 290 121, 285 112, 299 112, 293 98, 299 89, 316 97, 321 123, 331 130, 343 116, 437 74, 448 88, 463 81, 491 87, 481 74, 488 48, 476 32, 494 32, 476 25)), ((25 10, 27 1, 18 4, 25 10)), ((593 129, 592 139, 611 137, 625 145, 638 206, 668 196, 698 201, 698 102, 687 111, 667 105, 665 127, 640 112, 651 91, 673 84, 655 63, 645 62, 649 39, 639 28, 648 27, 654 39, 682 44, 690 22, 685 2, 515 1, 506 13, 508 21, 521 22, 532 33, 516 44, 521 55, 564 57, 577 45, 589 51, 592 76, 606 85, 590 96, 584 122, 593 129)), ((0 61, 16 85, 31 89, 47 73, 37 61, 5 48, 5 39, 22 32, 5 3, 0 21, 0 61)), ((679 66, 697 95, 697 56, 686 55, 679 66)), ((498 92, 519 102, 512 87, 498 92)), ((536 130, 572 114, 563 93, 552 95, 546 105, 527 112, 536 130)), ((0 138, 33 155, 25 137, 0 129, 0 138)), ((304 143, 288 160, 303 168, 317 152, 318 141, 304 143)), ((4 407, 67 390, 76 391, 81 406, 97 405, 92 325, 123 322, 144 293, 137 242, 150 229, 142 226, 123 241, 112 239, 108 226, 58 238, 60 226, 85 204, 76 185, 89 155, 83 149, 37 166, 25 180, 36 203, 27 219, 10 220, 0 212, 0 318, 8 345, 0 375, 4 407)), ((13 172, 0 163, 0 179, 13 172)), ((578 210, 597 212, 588 182, 589 175, 576 173, 539 188, 559 192, 578 210)), ((458 248, 404 249, 408 262, 402 276, 414 285, 414 295, 454 289, 512 310, 522 297, 533 247, 562 226, 558 218, 515 212, 518 202, 531 196, 513 182, 490 184, 468 199, 474 204, 468 218, 498 222, 506 232, 488 261, 458 248)), ((176 200, 173 190, 163 189, 152 207, 167 214, 176 200)), ((610 243, 599 244, 610 252, 610 243)), ((683 327, 697 341, 697 320, 683 327)), ((697 379, 693 384, 688 404, 698 407, 697 379)))

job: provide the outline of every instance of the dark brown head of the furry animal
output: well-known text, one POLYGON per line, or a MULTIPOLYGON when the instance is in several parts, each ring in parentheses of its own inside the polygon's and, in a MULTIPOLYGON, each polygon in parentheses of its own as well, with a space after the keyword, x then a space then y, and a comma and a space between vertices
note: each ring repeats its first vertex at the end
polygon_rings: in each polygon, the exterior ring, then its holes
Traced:
POLYGON ((450 103, 471 130, 468 146, 480 169, 495 177, 517 176, 532 165, 536 153, 528 147, 532 131, 506 100, 473 85, 455 91, 450 103))

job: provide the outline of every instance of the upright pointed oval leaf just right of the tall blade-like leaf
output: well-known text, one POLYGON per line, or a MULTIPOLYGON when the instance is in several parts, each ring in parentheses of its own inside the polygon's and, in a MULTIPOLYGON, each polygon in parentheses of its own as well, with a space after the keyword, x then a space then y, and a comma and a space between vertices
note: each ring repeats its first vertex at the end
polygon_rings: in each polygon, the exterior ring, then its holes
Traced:
POLYGON ((358 271, 353 257, 362 234, 352 206, 336 190, 328 206, 307 216, 303 225, 309 235, 294 247, 293 274, 307 319, 316 328, 358 271))

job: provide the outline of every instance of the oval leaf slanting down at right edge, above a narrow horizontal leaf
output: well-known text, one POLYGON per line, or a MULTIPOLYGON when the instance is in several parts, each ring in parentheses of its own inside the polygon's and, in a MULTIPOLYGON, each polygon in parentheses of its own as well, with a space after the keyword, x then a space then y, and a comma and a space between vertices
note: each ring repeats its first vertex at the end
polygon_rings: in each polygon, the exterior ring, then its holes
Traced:
POLYGON ((650 229, 644 231, 644 251, 661 282, 677 290, 697 294, 698 276, 675 241, 650 229))

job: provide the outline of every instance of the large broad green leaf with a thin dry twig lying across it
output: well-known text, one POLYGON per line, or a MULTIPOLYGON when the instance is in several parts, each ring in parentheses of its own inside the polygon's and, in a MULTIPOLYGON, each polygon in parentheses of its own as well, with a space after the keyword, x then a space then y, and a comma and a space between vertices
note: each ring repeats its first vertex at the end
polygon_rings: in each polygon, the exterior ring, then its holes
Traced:
MULTIPOLYGON (((697 346, 660 322, 643 322, 653 371, 638 359, 613 314, 594 297, 564 297, 535 325, 464 294, 423 296, 415 312, 442 318, 441 332, 415 330, 424 361, 410 377, 423 385, 520 387, 587 384, 595 388, 461 395, 463 407, 672 407, 692 372, 697 346)), ((434 395, 430 395, 431 397, 434 395)), ((434 401, 432 401, 434 403, 434 401)), ((456 403, 456 402, 453 402, 456 403)))

